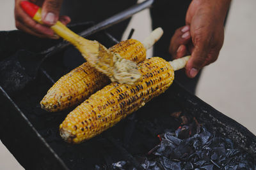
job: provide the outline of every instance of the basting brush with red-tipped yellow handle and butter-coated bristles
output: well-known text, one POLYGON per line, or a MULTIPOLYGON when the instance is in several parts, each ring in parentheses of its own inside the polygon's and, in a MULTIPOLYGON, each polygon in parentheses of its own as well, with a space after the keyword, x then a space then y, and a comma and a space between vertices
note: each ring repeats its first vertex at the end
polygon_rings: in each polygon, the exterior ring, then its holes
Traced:
MULTIPOLYGON (((42 24, 41 8, 28 1, 20 2, 20 6, 36 22, 42 24)), ((133 84, 141 77, 135 62, 124 59, 118 53, 112 53, 97 41, 91 41, 77 35, 60 21, 52 25, 51 29, 58 36, 76 46, 87 62, 101 73, 106 74, 111 81, 133 84)))

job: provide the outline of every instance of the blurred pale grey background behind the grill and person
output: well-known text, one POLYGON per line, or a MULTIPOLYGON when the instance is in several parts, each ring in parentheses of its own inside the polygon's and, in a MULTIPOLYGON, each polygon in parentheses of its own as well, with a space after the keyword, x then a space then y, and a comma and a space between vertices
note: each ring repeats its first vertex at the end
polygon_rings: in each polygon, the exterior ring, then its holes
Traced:
MULTIPOLYGON (((196 96, 216 110, 233 118, 256 134, 256 13, 255 0, 233 0, 225 28, 225 41, 219 59, 205 67, 196 96)), ((15 29, 14 1, 1 0, 0 31, 15 29)), ((127 30, 142 40, 150 29, 148 11, 132 18, 127 30)), ((124 38, 127 38, 125 33, 124 38)), ((151 56, 148 53, 148 56, 151 56)), ((0 170, 24 169, 0 142, 0 170)))

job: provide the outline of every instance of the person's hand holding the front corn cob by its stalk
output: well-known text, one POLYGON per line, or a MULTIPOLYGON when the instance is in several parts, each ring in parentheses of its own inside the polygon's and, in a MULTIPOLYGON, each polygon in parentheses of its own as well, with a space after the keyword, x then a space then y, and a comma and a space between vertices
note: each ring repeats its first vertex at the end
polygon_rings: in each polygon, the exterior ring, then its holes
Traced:
POLYGON ((230 0, 193 0, 186 14, 186 26, 175 31, 169 52, 174 58, 191 53, 186 74, 194 78, 202 67, 214 62, 224 39, 224 20, 230 0))

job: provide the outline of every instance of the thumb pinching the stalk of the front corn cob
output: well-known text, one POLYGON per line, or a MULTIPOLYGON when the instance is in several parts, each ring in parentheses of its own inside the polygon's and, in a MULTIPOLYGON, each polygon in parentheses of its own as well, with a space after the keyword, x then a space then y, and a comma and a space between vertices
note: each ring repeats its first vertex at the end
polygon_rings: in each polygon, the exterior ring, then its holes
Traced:
POLYGON ((207 47, 203 44, 195 46, 191 57, 186 64, 186 74, 189 78, 194 78, 198 71, 205 66, 205 60, 207 59, 207 47))

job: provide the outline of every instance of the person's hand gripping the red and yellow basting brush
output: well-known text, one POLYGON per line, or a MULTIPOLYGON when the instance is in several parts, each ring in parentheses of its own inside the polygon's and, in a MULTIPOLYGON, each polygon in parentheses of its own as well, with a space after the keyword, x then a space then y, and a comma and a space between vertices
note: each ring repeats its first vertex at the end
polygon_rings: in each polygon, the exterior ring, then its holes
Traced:
POLYGON ((31 3, 42 6, 42 22, 44 22, 44 25, 38 24, 24 12, 20 6, 21 1, 24 0, 15 0, 15 25, 17 29, 40 38, 57 39, 58 36, 54 34, 50 27, 56 24, 57 20, 65 25, 70 22, 70 18, 67 16, 59 17, 62 0, 30 0, 31 3))

